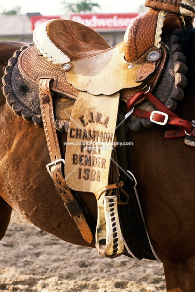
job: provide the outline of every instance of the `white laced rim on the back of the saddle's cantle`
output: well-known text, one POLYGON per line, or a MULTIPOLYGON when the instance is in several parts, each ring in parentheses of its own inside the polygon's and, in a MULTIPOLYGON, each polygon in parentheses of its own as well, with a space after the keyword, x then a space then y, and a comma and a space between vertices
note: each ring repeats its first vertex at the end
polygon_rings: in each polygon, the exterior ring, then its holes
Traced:
POLYGON ((57 48, 48 37, 46 27, 49 21, 38 25, 34 29, 33 41, 39 52, 43 55, 44 58, 47 58, 48 61, 60 65, 69 63, 71 59, 62 51, 60 51, 60 49, 57 48))

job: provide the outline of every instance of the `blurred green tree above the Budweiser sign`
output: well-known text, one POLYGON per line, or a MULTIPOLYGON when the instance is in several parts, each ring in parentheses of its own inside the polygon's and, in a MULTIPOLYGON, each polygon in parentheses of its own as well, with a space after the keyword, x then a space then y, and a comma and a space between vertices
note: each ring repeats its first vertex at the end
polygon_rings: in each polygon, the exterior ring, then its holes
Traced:
POLYGON ((65 4, 64 8, 66 11, 72 13, 92 12, 94 7, 101 9, 98 3, 91 2, 91 0, 83 0, 77 3, 70 3, 65 1, 63 4, 65 4))

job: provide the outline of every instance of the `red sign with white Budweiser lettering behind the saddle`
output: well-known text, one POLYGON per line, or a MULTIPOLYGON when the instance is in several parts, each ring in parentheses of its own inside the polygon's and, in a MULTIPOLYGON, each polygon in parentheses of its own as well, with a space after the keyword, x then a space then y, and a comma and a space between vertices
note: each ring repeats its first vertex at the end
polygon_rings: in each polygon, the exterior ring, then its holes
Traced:
POLYGON ((127 28, 137 13, 120 14, 72 14, 70 19, 90 28, 127 28))

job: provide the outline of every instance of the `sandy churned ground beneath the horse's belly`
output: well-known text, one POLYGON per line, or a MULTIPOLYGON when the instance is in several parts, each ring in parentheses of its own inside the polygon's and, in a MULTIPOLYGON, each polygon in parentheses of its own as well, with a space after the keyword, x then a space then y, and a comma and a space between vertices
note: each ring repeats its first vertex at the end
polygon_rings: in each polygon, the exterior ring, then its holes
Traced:
POLYGON ((42 232, 15 211, 0 241, 0 260, 0 291, 166 291, 161 263, 105 259, 95 249, 42 232))

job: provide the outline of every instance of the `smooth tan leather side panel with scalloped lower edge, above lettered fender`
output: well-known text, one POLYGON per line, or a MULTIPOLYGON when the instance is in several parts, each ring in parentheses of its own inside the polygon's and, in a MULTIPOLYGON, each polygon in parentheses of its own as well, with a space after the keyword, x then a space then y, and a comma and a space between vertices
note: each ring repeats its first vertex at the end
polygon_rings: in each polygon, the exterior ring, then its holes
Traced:
POLYGON ((137 60, 127 62, 121 43, 98 55, 72 61, 72 69, 66 72, 67 80, 76 89, 93 95, 112 95, 123 88, 137 87, 142 82, 135 82, 135 79, 151 50, 158 49, 149 48, 137 60))

